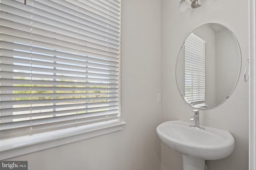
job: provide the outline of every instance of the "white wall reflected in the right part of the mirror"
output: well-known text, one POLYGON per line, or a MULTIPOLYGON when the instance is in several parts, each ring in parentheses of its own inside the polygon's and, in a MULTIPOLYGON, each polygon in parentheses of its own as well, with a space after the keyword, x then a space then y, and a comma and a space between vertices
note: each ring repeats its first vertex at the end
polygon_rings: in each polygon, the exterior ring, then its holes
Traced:
MULTIPOLYGON (((221 103, 234 88, 237 80, 240 53, 236 39, 228 30, 216 32, 216 102, 221 103)), ((243 73, 243 72, 242 72, 243 73)))

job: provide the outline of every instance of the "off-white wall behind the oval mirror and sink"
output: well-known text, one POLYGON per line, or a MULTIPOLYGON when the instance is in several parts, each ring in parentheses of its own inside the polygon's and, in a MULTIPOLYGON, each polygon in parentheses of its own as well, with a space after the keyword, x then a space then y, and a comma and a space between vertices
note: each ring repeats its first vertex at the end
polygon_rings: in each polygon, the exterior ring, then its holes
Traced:
MULTIPOLYGON (((248 170, 248 83, 243 72, 248 59, 248 2, 202 0, 203 6, 179 14, 179 0, 162 0, 162 121, 189 121, 192 107, 178 91, 175 64, 187 35, 204 23, 220 23, 236 35, 242 52, 242 70, 236 89, 224 104, 200 111, 203 125, 230 131, 235 139, 234 152, 221 160, 206 161, 208 170, 248 170)), ((194 123, 194 122, 191 122, 194 123)), ((182 170, 181 154, 161 145, 161 170, 182 170)))

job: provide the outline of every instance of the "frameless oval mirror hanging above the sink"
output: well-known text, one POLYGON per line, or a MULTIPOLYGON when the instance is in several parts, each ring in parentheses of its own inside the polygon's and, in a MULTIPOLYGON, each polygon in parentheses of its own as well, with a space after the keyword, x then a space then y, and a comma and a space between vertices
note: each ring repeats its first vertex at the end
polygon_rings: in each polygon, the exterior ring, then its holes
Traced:
POLYGON ((241 69, 234 34, 218 23, 196 28, 184 41, 176 63, 176 82, 190 106, 212 109, 233 92, 241 69))

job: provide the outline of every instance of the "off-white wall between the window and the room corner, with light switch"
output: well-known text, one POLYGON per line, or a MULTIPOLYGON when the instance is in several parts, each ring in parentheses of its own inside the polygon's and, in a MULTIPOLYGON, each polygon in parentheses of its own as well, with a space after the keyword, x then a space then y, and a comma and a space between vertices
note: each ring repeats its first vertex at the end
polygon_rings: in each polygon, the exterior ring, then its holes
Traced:
POLYGON ((29 170, 160 170, 161 1, 122 0, 122 131, 8 160, 29 170))

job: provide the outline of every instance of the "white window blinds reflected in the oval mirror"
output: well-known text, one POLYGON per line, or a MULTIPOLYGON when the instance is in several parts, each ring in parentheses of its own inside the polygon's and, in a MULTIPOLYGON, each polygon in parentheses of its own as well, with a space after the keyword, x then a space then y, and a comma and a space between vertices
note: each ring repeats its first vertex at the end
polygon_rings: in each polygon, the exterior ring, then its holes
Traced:
POLYGON ((194 33, 185 41, 185 97, 191 104, 205 101, 205 42, 194 33))

